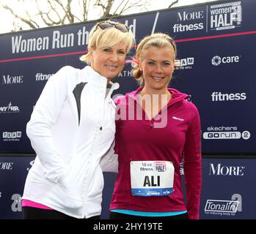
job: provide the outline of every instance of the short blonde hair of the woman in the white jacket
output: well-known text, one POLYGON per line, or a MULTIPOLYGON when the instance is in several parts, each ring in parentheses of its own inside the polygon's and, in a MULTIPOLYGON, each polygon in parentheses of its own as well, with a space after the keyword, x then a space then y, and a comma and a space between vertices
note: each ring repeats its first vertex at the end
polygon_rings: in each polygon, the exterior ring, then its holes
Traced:
MULTIPOLYGON (((118 23, 111 20, 104 20, 102 22, 118 23)), ((134 34, 130 30, 122 32, 114 26, 106 29, 100 29, 100 26, 96 23, 89 32, 88 53, 81 56, 80 60, 90 65, 91 61, 89 52, 91 49, 96 49, 101 46, 112 47, 122 42, 122 40, 124 40, 126 44, 125 53, 128 53, 134 44, 134 34)))

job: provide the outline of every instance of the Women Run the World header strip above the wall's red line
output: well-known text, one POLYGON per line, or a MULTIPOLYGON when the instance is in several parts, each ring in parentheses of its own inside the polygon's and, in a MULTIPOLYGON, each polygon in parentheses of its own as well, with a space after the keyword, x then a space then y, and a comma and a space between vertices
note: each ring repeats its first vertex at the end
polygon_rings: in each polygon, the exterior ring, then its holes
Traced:
MULTIPOLYGON (((223 33, 234 33, 245 29, 255 29, 253 20, 247 15, 253 15, 255 2, 253 1, 230 1, 219 4, 200 4, 187 6, 186 8, 161 10, 158 12, 146 12, 143 15, 128 15, 117 18, 125 23, 134 33, 136 39, 142 39, 145 35, 155 31, 169 32, 177 39, 187 37, 206 37, 223 33), (245 13, 246 12, 246 13, 245 13), (146 23, 145 23, 146 22, 146 23)), ((80 53, 87 50, 89 31, 95 22, 77 23, 73 26, 65 26, 52 29, 34 31, 33 34, 23 32, 12 34, 10 40, 4 35, 3 53, 1 59, 11 59, 21 56, 44 56, 52 51, 54 53, 80 53)), ((2 43, 3 42, 3 43, 2 43)))

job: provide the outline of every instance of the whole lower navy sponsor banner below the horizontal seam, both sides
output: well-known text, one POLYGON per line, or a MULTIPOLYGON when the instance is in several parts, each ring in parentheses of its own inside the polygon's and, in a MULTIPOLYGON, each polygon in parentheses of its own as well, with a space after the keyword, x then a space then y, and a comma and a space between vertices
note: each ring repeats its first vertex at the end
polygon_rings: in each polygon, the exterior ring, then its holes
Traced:
MULTIPOLYGON (((21 196, 33 162, 33 156, 1 156, 0 219, 22 219, 21 196)), ((255 165, 256 159, 203 158, 200 219, 255 219, 255 165)), ((101 219, 109 219, 116 177, 104 173, 101 219)))

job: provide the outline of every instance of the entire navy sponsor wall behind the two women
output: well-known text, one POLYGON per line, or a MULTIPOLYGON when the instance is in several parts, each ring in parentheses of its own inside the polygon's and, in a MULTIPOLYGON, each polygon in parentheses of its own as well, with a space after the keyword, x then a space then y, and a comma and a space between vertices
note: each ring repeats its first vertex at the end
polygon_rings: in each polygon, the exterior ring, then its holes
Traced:
MULTIPOLYGON (((178 46, 172 88, 191 96, 202 122, 202 219, 254 219, 256 176, 256 1, 213 1, 117 18, 140 39, 167 33, 178 46)), ((26 123, 48 78, 85 66, 95 21, 0 35, 0 218, 21 218, 21 195, 34 151, 26 123)), ((131 51, 133 55, 134 47, 131 51)), ((131 64, 114 78, 115 94, 138 86, 131 64)), ((103 218, 115 174, 105 173, 103 218)))

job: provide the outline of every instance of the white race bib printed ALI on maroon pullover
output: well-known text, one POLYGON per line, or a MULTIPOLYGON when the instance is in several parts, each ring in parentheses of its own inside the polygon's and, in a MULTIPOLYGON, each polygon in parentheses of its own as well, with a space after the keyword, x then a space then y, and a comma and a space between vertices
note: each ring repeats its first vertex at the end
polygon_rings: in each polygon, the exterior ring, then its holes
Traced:
POLYGON ((174 167, 168 161, 131 161, 133 196, 167 196, 173 192, 174 167))

